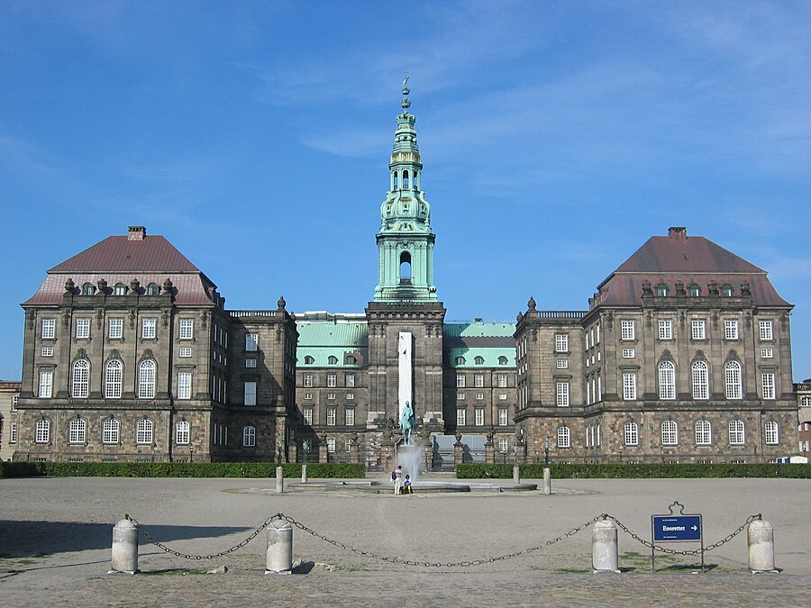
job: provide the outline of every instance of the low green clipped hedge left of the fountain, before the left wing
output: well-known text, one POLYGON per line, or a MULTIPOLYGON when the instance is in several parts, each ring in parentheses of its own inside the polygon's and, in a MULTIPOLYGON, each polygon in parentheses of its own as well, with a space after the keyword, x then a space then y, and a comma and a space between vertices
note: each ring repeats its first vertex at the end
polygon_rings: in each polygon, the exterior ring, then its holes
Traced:
MULTIPOLYGON (((275 462, 0 462, 0 477, 275 477, 275 462)), ((286 477, 301 465, 285 463, 286 477)), ((312 478, 362 478, 363 464, 309 463, 312 478)))

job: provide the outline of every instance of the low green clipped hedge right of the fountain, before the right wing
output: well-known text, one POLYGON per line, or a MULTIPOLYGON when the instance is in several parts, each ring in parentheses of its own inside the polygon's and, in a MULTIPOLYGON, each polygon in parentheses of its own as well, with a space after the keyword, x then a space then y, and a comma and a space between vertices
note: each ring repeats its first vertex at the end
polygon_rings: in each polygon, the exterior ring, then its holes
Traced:
MULTIPOLYGON (((542 479, 542 464, 521 465, 521 476, 542 479)), ((811 479, 811 467, 801 464, 757 463, 731 464, 551 464, 551 476, 556 479, 577 478, 679 478, 679 477, 789 477, 811 479)), ((459 479, 508 479, 513 476, 513 465, 468 464, 456 467, 459 479)))

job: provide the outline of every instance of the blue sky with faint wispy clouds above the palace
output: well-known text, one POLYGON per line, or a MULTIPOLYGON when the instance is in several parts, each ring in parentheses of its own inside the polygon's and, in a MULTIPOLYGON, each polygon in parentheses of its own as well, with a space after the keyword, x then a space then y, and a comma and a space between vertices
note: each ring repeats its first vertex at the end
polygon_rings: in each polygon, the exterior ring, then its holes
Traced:
POLYGON ((447 318, 586 309, 671 225, 770 271, 811 377, 811 3, 0 3, 0 377, 128 224, 229 308, 362 312, 409 70, 447 318))

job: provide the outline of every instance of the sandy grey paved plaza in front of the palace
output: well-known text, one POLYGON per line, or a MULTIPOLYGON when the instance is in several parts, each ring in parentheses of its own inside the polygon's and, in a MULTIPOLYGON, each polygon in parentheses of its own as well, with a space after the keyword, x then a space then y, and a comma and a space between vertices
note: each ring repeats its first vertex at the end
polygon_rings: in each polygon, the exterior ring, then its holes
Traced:
MULTIPOLYGON (((4 605, 808 605, 809 482, 795 479, 579 479, 540 492, 420 494, 304 491, 273 479, 0 479, 4 605), (762 513, 774 525, 779 575, 747 570, 745 532, 706 554, 657 554, 619 534, 623 574, 591 574, 591 529, 527 555, 479 566, 403 566, 296 529, 292 576, 264 576, 266 537, 222 558, 188 560, 141 538, 138 576, 107 576, 111 526, 129 513, 180 552, 208 555, 274 513, 387 558, 455 563, 553 540, 610 513, 650 539, 652 513, 675 500, 702 513, 706 544, 762 513), (205 574, 228 567, 226 574, 205 574)), ((670 545, 694 549, 695 544, 670 545)))

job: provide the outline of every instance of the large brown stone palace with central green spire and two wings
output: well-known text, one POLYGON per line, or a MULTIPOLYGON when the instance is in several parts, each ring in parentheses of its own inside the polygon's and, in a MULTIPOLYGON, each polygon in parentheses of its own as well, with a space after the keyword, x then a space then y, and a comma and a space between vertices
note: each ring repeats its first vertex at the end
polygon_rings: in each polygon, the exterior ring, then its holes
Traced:
POLYGON ((530 298, 516 322, 445 322, 408 93, 363 313, 293 314, 284 298, 229 310, 169 240, 130 226, 50 268, 22 304, 14 459, 387 467, 404 389, 428 467, 797 451, 792 305, 686 228, 644 243, 588 310, 530 298))

